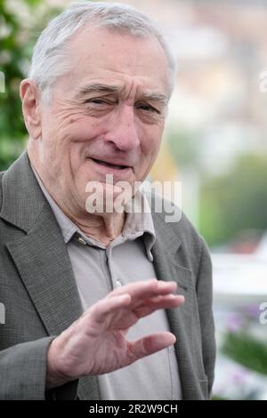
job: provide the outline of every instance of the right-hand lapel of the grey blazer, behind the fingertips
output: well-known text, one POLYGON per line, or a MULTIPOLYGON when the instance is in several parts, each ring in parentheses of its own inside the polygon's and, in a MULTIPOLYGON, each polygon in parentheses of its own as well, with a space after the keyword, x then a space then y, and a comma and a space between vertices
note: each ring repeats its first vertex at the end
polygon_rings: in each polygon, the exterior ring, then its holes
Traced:
POLYGON ((196 318, 196 293, 191 277, 191 270, 182 267, 177 252, 182 245, 174 234, 171 223, 166 223, 163 216, 154 213, 156 243, 153 246, 154 266, 159 280, 174 280, 178 284, 178 293, 183 294, 184 304, 178 309, 167 309, 171 332, 176 336, 175 352, 177 356, 183 399, 203 398, 201 384, 194 353, 193 321, 196 318))

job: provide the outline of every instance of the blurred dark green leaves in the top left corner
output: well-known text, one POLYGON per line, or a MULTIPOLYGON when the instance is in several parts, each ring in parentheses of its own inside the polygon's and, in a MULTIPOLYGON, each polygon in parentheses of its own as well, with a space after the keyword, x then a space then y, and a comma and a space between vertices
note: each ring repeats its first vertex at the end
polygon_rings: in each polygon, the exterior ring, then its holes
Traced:
POLYGON ((25 147, 27 131, 21 113, 20 81, 27 76, 37 36, 56 12, 58 9, 44 8, 40 0, 20 0, 18 10, 7 0, 0 0, 0 71, 5 87, 0 92, 0 171, 11 165, 25 147))

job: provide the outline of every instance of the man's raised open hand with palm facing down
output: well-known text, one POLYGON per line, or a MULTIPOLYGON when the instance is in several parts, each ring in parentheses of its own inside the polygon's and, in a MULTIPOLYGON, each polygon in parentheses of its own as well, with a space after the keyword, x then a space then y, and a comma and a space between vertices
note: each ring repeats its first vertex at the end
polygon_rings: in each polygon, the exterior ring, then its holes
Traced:
POLYGON ((122 286, 85 311, 48 350, 47 388, 86 375, 105 374, 173 345, 174 334, 150 334, 128 342, 131 326, 157 309, 177 308, 175 282, 151 279, 122 286))

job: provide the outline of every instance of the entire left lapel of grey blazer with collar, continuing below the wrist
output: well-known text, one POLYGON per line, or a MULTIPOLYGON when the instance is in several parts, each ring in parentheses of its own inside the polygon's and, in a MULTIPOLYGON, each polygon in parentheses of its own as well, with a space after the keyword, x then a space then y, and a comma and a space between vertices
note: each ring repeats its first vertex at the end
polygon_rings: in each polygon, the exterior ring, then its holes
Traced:
MULTIPOLYGON (((7 249, 47 334, 61 334, 82 314, 82 307, 61 229, 26 153, 4 174, 3 191, 0 216, 20 229, 7 249)), ((81 379, 78 395, 97 399, 96 378, 81 379)))

